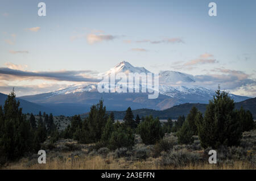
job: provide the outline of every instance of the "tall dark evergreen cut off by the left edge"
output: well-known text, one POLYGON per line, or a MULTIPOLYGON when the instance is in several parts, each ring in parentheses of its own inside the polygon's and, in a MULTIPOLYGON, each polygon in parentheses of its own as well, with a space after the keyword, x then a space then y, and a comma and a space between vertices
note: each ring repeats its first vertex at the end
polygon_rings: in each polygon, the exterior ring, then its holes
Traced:
POLYGON ((32 129, 15 97, 13 90, 7 96, 3 109, 0 108, 1 157, 10 160, 21 157, 32 148, 32 129))

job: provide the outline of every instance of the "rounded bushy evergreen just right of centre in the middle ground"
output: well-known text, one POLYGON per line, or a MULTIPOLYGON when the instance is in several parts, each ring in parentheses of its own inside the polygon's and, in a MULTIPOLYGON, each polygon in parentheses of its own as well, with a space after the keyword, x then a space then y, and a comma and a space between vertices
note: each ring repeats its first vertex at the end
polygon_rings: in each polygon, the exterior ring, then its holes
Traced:
POLYGON ((138 134, 141 135, 144 144, 155 144, 163 138, 161 123, 158 118, 153 119, 152 116, 146 117, 145 120, 138 125, 138 134))

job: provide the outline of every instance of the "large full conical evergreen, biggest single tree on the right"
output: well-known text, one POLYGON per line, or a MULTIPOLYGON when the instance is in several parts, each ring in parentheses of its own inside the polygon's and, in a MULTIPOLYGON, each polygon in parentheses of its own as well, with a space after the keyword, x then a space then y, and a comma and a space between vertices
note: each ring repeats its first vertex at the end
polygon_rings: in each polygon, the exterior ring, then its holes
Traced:
POLYGON ((228 92, 216 91, 213 100, 209 101, 204 119, 197 123, 197 130, 203 148, 219 148, 221 145, 239 145, 242 129, 234 101, 228 92))

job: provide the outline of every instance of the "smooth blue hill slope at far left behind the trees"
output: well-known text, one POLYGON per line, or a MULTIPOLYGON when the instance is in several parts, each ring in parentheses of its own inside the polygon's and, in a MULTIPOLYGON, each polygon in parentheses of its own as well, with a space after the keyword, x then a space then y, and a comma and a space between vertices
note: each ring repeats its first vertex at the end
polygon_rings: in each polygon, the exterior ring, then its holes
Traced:
MULTIPOLYGON (((4 105, 5 104, 5 100, 7 99, 7 96, 6 94, 2 94, 0 93, 0 105, 4 105)), ((31 102, 28 102, 27 100, 23 100, 23 99, 19 99, 19 98, 16 98, 16 100, 19 100, 20 102, 20 107, 22 107, 22 112, 23 113, 34 113, 34 114, 38 114, 39 111, 41 111, 42 113, 43 112, 46 112, 46 113, 51 113, 52 111, 47 108, 47 107, 44 107, 44 106, 40 106, 38 104, 35 104, 35 103, 31 103, 31 102)))

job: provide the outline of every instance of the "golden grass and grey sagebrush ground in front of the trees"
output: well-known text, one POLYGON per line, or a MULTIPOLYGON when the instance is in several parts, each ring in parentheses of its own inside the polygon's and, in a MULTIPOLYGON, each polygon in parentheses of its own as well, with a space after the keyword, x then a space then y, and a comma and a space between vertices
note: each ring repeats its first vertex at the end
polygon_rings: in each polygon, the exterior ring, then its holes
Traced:
MULTIPOLYGON (((18 161, 6 163, 0 169, 256 169, 256 130, 244 132, 240 146, 217 150, 217 164, 208 163, 208 152, 205 153, 205 150, 201 148, 199 140, 195 140, 193 145, 179 145, 176 136, 166 134, 163 140, 174 144, 171 149, 173 153, 170 154, 169 150, 166 150, 155 155, 154 146, 156 145, 144 145, 139 136, 136 139, 137 144, 133 149, 125 151, 108 150, 108 148, 97 150, 95 144, 79 144, 71 139, 60 140, 51 149, 43 148, 47 153, 45 164, 38 163, 38 154, 29 154, 18 161)), ((44 145, 47 145, 47 142, 44 145)))

